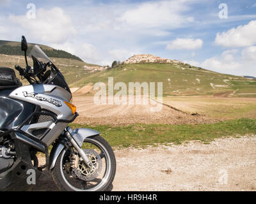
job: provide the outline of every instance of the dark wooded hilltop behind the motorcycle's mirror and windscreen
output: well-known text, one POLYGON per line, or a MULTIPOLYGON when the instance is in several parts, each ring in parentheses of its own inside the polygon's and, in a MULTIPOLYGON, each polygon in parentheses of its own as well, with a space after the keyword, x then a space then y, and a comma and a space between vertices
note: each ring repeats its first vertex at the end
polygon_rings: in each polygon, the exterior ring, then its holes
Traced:
MULTIPOLYGON (((28 54, 31 51, 31 49, 34 47, 33 43, 28 43, 28 54)), ((64 50, 56 50, 54 48, 45 46, 45 45, 39 45, 42 50, 45 52, 45 54, 48 57, 58 57, 58 58, 65 58, 65 59, 76 59, 77 61, 83 62, 82 59, 77 57, 76 55, 72 55, 64 50)), ((23 55, 24 52, 20 50, 20 43, 15 41, 3 41, 0 40, 0 54, 5 55, 23 55)))

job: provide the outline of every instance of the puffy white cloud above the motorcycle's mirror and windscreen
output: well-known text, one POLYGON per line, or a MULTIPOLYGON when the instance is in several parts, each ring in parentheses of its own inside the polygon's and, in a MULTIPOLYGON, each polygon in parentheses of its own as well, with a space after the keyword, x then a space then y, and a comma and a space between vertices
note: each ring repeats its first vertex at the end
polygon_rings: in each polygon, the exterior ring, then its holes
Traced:
POLYGON ((28 31, 34 39, 41 39, 45 43, 65 43, 70 36, 77 33, 70 17, 57 7, 36 10, 35 19, 29 19, 26 15, 10 15, 9 20, 13 25, 28 31))

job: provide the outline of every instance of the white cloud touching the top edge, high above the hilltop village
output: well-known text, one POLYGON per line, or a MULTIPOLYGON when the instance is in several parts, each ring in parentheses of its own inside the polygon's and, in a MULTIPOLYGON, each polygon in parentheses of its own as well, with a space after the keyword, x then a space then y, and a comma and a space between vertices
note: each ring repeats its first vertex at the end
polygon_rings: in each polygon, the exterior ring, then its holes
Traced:
POLYGON ((177 28, 194 21, 193 17, 183 15, 189 10, 191 0, 157 1, 141 3, 131 8, 118 18, 132 26, 177 28))

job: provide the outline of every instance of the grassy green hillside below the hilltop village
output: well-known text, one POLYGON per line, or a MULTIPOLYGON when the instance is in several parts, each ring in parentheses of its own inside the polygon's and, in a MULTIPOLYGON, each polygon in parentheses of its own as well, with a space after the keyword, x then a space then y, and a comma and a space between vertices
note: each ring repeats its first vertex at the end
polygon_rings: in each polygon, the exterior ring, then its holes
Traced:
POLYGON ((114 84, 124 82, 127 87, 129 82, 163 82, 163 96, 256 96, 256 80, 173 62, 120 64, 82 78, 72 86, 96 82, 108 85, 108 77, 114 77, 114 84))

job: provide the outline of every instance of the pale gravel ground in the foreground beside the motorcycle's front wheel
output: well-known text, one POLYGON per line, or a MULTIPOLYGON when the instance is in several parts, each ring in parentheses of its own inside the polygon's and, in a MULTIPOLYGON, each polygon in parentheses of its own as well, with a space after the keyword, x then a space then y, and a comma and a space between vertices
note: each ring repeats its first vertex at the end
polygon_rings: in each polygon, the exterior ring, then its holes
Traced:
MULTIPOLYGON (((116 150, 113 191, 255 191, 256 136, 116 150)), ((57 191, 45 173, 34 191, 57 191)))

